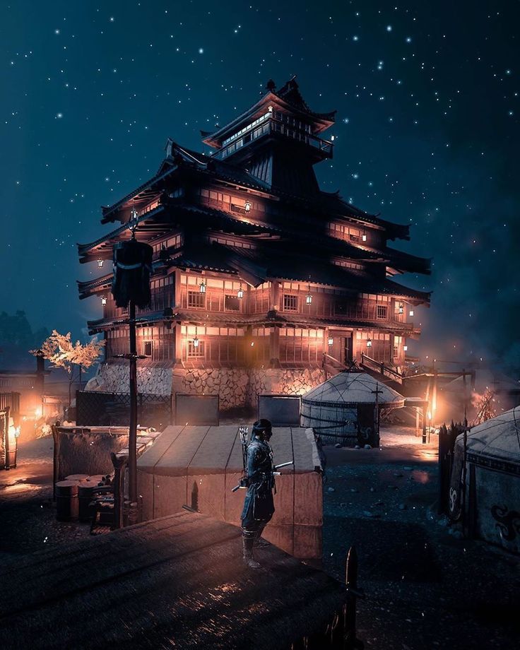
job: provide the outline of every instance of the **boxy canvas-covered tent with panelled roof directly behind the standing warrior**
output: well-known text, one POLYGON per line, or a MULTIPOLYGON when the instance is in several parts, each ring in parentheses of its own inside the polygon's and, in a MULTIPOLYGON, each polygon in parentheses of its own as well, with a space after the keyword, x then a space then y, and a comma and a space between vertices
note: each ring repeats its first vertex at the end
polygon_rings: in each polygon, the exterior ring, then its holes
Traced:
MULTIPOLYGON (((312 432, 276 427, 276 464, 293 461, 276 477, 276 512, 264 537, 287 553, 321 560, 321 465, 312 432)), ((240 525, 245 490, 232 492, 242 475, 238 427, 167 427, 138 460, 143 520, 179 512, 184 504, 240 525)))

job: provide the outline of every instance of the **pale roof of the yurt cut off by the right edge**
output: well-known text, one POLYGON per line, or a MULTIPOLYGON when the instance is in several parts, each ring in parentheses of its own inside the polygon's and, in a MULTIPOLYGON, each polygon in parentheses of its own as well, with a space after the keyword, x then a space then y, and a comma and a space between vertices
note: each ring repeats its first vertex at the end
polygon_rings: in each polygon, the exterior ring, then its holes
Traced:
MULTIPOLYGON (((457 444, 462 442, 460 435, 457 444)), ((520 465, 520 406, 473 427, 468 432, 468 454, 520 465)))

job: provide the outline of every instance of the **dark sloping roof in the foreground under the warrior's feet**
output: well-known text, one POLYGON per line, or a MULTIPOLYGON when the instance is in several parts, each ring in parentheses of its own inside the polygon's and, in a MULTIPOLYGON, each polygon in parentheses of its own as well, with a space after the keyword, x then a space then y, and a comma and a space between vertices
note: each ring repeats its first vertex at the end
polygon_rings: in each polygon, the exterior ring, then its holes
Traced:
POLYGON ((27 555, 0 567, 0 648, 269 650, 323 634, 345 586, 274 546, 258 557, 268 568, 246 569, 238 528, 188 512, 27 555))

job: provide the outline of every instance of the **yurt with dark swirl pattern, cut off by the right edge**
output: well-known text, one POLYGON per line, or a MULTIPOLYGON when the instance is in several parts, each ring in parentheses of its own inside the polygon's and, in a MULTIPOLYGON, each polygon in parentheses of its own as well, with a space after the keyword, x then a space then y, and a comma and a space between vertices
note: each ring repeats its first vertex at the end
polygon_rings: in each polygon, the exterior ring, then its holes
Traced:
POLYGON ((476 536, 520 553, 520 406, 473 427, 455 443, 450 515, 476 536))

